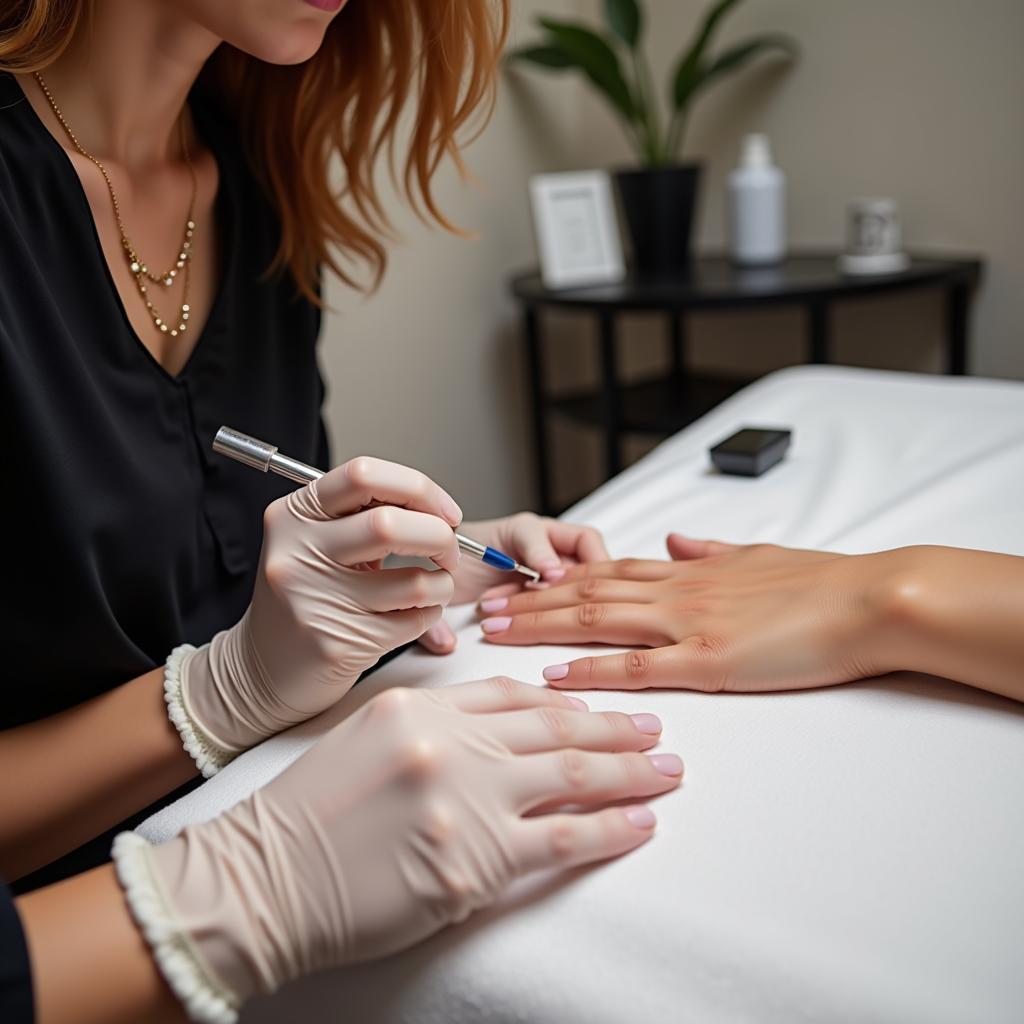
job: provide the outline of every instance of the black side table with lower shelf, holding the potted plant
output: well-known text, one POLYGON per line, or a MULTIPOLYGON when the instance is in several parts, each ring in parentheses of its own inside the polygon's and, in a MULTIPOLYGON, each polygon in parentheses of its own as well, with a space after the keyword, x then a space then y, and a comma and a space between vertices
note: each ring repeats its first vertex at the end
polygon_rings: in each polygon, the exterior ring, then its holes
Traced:
POLYGON ((829 361, 829 309, 834 301, 915 288, 942 288, 946 300, 946 372, 967 373, 968 306, 981 276, 979 258, 913 256, 899 273, 848 276, 835 252, 802 252, 771 267, 740 268, 724 256, 693 261, 685 278, 553 291, 534 271, 513 278, 512 293, 523 311, 539 507, 551 514, 547 416, 558 412, 602 427, 608 477, 622 469, 625 433, 669 435, 702 416, 754 378, 694 374, 686 370, 684 313, 689 310, 759 309, 783 304, 807 311, 808 361, 829 361), (551 398, 544 391, 538 313, 545 306, 579 309, 597 317, 601 385, 595 391, 551 398), (620 312, 664 312, 669 326, 670 370, 664 376, 623 386, 618 382, 615 318, 620 312))

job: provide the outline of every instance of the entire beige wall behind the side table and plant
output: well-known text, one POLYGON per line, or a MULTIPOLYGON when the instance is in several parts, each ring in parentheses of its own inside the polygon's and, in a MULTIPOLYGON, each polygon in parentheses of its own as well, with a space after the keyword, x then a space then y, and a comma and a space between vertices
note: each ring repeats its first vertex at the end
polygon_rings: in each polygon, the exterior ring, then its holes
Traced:
MULTIPOLYGON (((648 0, 651 52, 664 76, 705 0, 648 0)), ((537 10, 589 17, 598 0, 516 4, 528 36, 537 10)), ((907 243, 988 259, 974 316, 972 370, 1024 378, 1024 40, 1021 0, 749 0, 723 41, 785 31, 803 45, 793 70, 755 70, 705 97, 689 157, 708 162, 699 240, 723 242, 722 181, 738 136, 765 130, 790 182, 795 245, 834 245, 843 205, 897 199, 907 243)), ((338 458, 370 452, 418 465, 471 514, 528 502, 529 456, 515 310, 505 281, 534 259, 525 200, 537 170, 615 166, 629 158, 604 109, 568 80, 506 79, 496 118, 468 159, 479 188, 445 172, 445 209, 479 232, 464 242, 399 217, 406 244, 369 301, 334 287, 323 361, 338 458)), ((767 370, 802 358, 799 315, 694 317, 701 365, 767 370)), ((585 327, 549 317, 553 371, 566 384, 594 373, 585 327)), ((836 317, 848 362, 939 366, 936 295, 851 305, 836 317)), ((659 357, 658 325, 629 325, 631 366, 659 357)), ((563 497, 586 482, 593 442, 557 432, 563 497)))

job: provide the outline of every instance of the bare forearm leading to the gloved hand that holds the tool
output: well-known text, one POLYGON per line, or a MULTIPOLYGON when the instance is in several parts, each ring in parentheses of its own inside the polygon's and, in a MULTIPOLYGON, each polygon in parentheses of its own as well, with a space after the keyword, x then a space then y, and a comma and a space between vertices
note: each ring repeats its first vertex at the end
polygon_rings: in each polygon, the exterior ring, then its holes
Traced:
POLYGON ((167 717, 162 669, 0 732, 0 874, 20 878, 195 774, 167 717))

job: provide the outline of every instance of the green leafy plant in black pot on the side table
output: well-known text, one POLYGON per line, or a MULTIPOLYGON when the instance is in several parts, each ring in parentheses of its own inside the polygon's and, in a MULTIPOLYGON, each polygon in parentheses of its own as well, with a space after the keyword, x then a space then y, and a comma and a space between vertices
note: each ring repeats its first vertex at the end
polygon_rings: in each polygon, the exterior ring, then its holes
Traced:
POLYGON ((650 65, 641 46, 644 18, 637 0, 604 0, 603 30, 539 17, 545 38, 509 53, 546 71, 582 72, 626 131, 640 167, 620 170, 615 182, 633 242, 634 265, 645 274, 678 272, 689 259, 701 167, 679 159, 693 101, 710 85, 763 53, 793 59, 797 44, 769 34, 711 52, 715 33, 740 0, 718 0, 705 14, 673 69, 663 116, 650 65))

